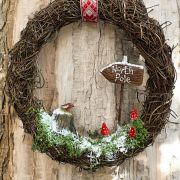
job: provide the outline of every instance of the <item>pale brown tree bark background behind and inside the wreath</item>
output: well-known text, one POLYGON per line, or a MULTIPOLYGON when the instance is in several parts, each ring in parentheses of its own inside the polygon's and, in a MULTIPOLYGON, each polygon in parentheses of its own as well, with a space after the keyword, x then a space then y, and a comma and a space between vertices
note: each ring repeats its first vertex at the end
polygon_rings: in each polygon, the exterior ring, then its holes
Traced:
MULTIPOLYGON (((32 137, 25 134, 21 121, 16 117, 4 94, 8 50, 19 40, 28 18, 50 0, 0 0, 0 179, 6 180, 172 180, 180 179, 180 125, 167 124, 152 147, 119 167, 102 168, 96 173, 79 170, 71 165, 58 164, 45 154, 31 150, 32 137)), ((168 43, 173 46, 180 39, 180 1, 145 0, 146 6, 154 7, 150 16, 171 21, 164 29, 168 43)), ((173 52, 177 68, 177 83, 172 109, 180 115, 180 47, 173 52)), ((113 25, 76 22, 61 28, 52 42, 39 53, 39 68, 45 78, 45 86, 36 93, 44 100, 45 107, 75 104, 75 124, 78 131, 86 134, 105 121, 113 131, 118 116, 120 86, 105 80, 99 70, 108 63, 129 56, 129 61, 142 63, 138 51, 125 37, 124 32, 113 25)), ((145 77, 145 81, 147 76, 145 77)), ((145 82, 143 86, 145 85, 145 82)), ((144 87, 124 88, 122 123, 128 119, 133 105, 138 105, 136 93, 144 87)), ((139 106, 140 108, 140 106, 139 106)), ((170 118, 178 122, 180 119, 170 118)))

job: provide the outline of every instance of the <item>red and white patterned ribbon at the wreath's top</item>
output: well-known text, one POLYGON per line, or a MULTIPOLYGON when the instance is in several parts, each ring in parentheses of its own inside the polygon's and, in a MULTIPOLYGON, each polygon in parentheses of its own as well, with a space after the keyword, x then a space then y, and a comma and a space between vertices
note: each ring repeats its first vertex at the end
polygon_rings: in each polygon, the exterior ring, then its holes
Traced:
POLYGON ((80 0, 83 21, 97 22, 98 0, 80 0))

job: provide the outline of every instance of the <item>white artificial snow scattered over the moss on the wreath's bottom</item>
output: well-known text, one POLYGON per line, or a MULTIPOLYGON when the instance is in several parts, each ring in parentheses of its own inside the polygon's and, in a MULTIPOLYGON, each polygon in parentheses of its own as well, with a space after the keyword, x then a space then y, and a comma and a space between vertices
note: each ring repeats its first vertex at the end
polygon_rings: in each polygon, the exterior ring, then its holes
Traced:
MULTIPOLYGON (((91 161, 98 163, 98 158, 102 155, 102 149, 106 148, 107 145, 112 145, 117 148, 117 151, 126 153, 126 134, 123 134, 122 128, 118 127, 117 131, 108 137, 102 138, 99 144, 94 144, 96 140, 90 139, 88 137, 79 137, 78 135, 72 133, 67 129, 57 130, 55 116, 63 114, 60 109, 56 109, 53 111, 53 115, 50 116, 48 113, 43 110, 40 111, 41 123, 44 123, 48 126, 50 132, 55 132, 57 135, 62 136, 70 136, 73 139, 74 145, 78 146, 78 148, 83 152, 84 150, 88 150, 90 154, 88 157, 91 161), (117 137, 117 138, 114 138, 117 137)), ((116 152, 117 153, 117 152, 116 152)), ((105 154, 107 160, 112 161, 114 159, 115 153, 109 151, 105 154)))

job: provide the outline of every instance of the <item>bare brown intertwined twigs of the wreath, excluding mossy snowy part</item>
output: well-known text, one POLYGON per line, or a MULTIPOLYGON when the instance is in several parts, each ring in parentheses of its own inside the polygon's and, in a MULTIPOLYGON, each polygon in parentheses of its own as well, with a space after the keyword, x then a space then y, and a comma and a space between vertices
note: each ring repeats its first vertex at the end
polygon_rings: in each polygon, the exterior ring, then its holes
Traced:
MULTIPOLYGON (((149 79, 146 86, 142 118, 149 137, 144 146, 126 155, 119 153, 114 161, 100 157, 100 166, 121 164, 150 145, 164 128, 170 114, 175 81, 172 49, 166 44, 161 25, 148 17, 142 0, 99 0, 99 17, 123 29, 145 59, 149 79)), ((30 19, 21 33, 20 41, 10 51, 11 61, 7 74, 7 91, 23 121, 26 132, 35 134, 35 118, 26 112, 42 106, 34 97, 34 89, 41 86, 37 69, 37 54, 62 26, 81 19, 79 0, 55 0, 30 19)), ((63 147, 52 147, 47 154, 59 162, 75 164, 89 169, 86 155, 69 157, 63 147)))

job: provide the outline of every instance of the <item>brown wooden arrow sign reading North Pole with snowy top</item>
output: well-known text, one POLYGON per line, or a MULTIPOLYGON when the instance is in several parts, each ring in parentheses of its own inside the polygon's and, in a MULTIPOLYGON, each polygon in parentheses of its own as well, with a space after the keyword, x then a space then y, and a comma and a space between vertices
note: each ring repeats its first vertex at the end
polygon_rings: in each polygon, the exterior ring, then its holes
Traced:
POLYGON ((144 67, 127 62, 115 62, 103 68, 101 73, 112 83, 140 86, 143 82, 144 67))

